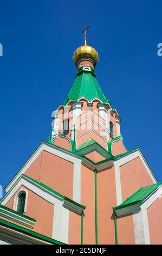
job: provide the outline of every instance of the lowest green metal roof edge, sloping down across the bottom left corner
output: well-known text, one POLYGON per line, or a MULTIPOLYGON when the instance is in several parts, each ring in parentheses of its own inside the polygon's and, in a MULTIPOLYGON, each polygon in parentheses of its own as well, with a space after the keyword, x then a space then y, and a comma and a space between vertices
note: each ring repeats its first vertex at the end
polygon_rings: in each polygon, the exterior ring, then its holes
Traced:
POLYGON ((19 225, 16 225, 16 224, 11 223, 11 222, 9 222, 9 221, 2 220, 1 218, 0 218, 0 224, 7 225, 8 227, 21 230, 21 231, 23 231, 23 232, 25 232, 25 233, 28 233, 28 234, 33 235, 33 236, 35 236, 35 237, 38 237, 38 238, 40 238, 40 239, 42 239, 42 240, 55 243, 56 245, 66 245, 66 243, 57 241, 57 240, 52 239, 52 238, 50 238, 50 237, 48 237, 48 236, 42 235, 42 234, 40 234, 40 233, 37 233, 37 232, 35 232, 35 231, 33 231, 33 230, 20 227, 19 225))

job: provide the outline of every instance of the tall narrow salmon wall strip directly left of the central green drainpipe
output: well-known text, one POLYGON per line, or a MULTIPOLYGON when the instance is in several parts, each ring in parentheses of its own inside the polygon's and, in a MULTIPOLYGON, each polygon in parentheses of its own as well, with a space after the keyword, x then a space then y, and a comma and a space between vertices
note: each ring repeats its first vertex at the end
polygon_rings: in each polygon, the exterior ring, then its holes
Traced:
POLYGON ((83 220, 83 244, 95 244, 94 172, 81 166, 81 204, 86 205, 83 220))

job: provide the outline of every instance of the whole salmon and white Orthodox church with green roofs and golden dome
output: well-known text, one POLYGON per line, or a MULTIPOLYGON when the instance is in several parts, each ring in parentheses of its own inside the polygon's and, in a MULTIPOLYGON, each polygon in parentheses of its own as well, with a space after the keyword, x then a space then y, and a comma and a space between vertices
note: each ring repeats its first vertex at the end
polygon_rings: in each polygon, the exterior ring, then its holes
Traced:
POLYGON ((5 187, 1 244, 162 244, 162 182, 96 80, 95 48, 76 49, 75 82, 43 141, 5 187))

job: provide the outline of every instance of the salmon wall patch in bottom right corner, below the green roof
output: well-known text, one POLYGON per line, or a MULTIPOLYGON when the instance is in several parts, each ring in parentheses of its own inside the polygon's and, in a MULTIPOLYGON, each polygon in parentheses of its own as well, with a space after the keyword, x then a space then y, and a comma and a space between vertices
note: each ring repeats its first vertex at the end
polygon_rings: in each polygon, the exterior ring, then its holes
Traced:
POLYGON ((148 225, 150 230, 150 243, 151 245, 162 244, 162 197, 159 197, 147 209, 148 225))

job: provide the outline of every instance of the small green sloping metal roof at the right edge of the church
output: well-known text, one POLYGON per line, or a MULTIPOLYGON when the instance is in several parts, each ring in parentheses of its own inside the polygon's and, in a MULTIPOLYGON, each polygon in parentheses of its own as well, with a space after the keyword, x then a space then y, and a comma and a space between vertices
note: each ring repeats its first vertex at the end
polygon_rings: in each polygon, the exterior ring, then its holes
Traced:
POLYGON ((126 206, 132 205, 132 204, 140 204, 142 203, 150 194, 155 191, 162 182, 155 183, 153 185, 147 186, 147 187, 141 187, 138 191, 136 191, 132 196, 128 197, 122 204, 116 206, 113 208, 114 210, 124 208, 126 206))

